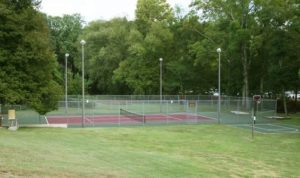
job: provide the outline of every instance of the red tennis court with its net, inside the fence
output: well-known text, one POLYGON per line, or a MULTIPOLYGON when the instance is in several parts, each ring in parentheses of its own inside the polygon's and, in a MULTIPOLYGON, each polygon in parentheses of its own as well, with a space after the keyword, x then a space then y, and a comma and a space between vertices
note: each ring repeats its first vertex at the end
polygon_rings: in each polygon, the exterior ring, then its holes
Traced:
POLYGON ((86 115, 85 117, 73 116, 48 116, 49 124, 67 124, 69 127, 76 126, 114 126, 114 125, 157 125, 171 123, 214 123, 214 118, 206 116, 172 113, 172 114, 137 114, 120 109, 117 115, 86 115))

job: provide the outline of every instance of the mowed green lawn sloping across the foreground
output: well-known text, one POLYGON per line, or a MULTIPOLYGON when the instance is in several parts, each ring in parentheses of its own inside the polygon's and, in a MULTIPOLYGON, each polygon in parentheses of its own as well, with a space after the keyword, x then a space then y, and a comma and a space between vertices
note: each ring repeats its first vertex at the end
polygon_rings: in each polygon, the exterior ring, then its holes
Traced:
POLYGON ((300 134, 253 140, 226 125, 0 128, 0 177, 300 177, 299 168, 300 134))

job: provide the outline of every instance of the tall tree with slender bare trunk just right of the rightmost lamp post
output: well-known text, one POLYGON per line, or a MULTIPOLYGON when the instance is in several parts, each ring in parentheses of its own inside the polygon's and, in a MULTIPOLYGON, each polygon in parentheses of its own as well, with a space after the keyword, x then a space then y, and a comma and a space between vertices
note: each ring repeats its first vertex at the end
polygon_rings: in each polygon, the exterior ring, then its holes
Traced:
POLYGON ((196 0, 195 6, 203 10, 204 20, 217 23, 220 31, 226 34, 223 49, 230 55, 230 61, 240 62, 243 73, 242 96, 248 97, 249 68, 252 61, 250 42, 255 32, 254 1, 196 0))

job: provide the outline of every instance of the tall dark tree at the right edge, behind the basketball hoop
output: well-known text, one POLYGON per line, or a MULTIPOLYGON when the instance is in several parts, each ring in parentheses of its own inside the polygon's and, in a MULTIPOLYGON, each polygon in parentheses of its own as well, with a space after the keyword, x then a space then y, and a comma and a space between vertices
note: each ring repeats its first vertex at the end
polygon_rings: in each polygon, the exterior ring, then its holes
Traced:
POLYGON ((264 45, 261 49, 269 59, 269 90, 281 93, 287 114, 285 91, 299 89, 297 71, 300 66, 299 43, 299 2, 297 1, 258 1, 257 21, 263 29, 264 45))

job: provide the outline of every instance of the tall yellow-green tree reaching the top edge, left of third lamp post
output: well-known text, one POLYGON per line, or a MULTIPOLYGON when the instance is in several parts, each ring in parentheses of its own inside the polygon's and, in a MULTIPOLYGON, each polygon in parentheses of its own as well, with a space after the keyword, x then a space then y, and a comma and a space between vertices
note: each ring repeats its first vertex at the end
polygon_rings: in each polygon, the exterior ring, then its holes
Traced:
POLYGON ((137 28, 130 32, 128 57, 115 71, 115 82, 125 81, 134 94, 159 93, 159 58, 164 64, 171 60, 173 18, 165 0, 138 1, 137 28))

